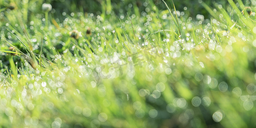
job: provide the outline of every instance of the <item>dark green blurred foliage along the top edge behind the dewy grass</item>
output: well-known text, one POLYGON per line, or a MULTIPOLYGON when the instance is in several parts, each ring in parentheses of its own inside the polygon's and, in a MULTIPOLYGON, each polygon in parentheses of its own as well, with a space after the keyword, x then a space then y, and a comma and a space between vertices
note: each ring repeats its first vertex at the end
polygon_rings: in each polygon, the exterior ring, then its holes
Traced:
MULTIPOLYGON (((28 1, 28 0, 23 0, 28 1)), ((256 3, 251 3, 250 0, 241 0, 245 6, 255 5, 256 3)), ((15 2, 15 0, 2 0, 0 6, 8 6, 10 2, 15 2)), ((172 0, 165 0, 171 9, 173 9, 172 0)), ((209 18, 209 13, 201 5, 202 2, 209 5, 209 7, 214 8, 215 4, 221 4, 224 8, 228 6, 227 0, 173 0, 175 7, 178 11, 184 11, 186 15, 195 17, 196 15, 204 15, 209 18)), ((102 12, 115 13, 116 15, 126 14, 126 12, 134 13, 134 11, 145 12, 145 8, 148 4, 151 6, 156 6, 160 10, 165 10, 166 6, 163 4, 162 0, 29 0, 28 11, 31 13, 41 12, 40 8, 36 8, 36 5, 41 5, 42 3, 52 4, 52 13, 54 17, 62 19, 62 12, 70 14, 71 12, 88 12, 96 15, 101 15, 102 12), (134 10, 135 9, 135 10, 134 10)), ((20 4, 17 1, 17 4, 20 4)), ((62 19, 63 20, 63 19, 62 19)))

